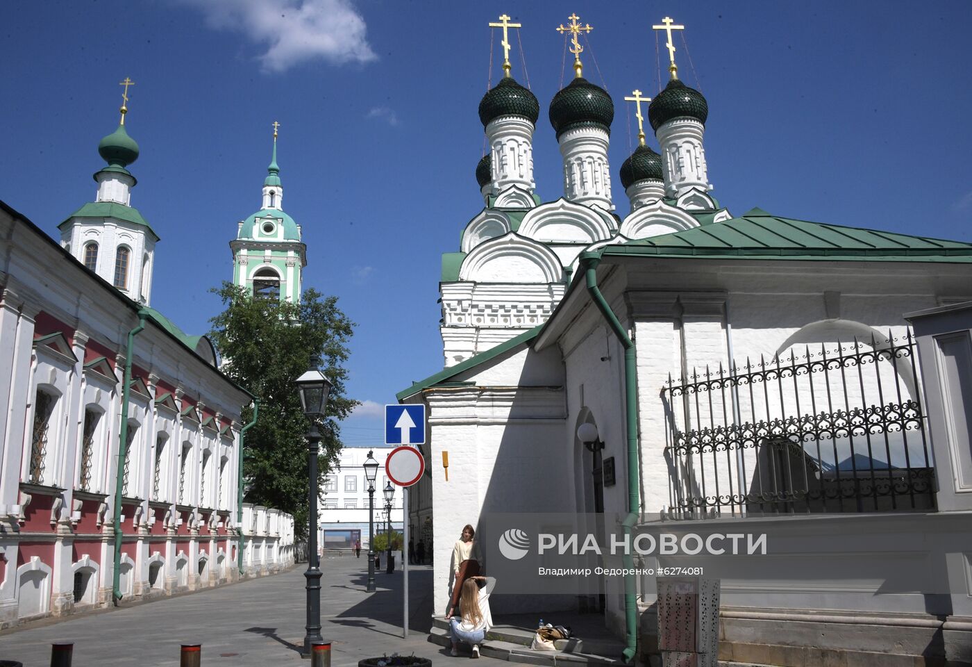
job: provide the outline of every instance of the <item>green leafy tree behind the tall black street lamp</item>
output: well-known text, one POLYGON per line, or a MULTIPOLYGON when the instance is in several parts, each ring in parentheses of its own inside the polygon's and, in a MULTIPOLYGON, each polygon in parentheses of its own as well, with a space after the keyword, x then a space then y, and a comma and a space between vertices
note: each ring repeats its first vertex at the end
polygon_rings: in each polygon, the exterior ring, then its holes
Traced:
MULTIPOLYGON (((341 449, 338 421, 359 404, 344 394, 347 343, 354 323, 337 298, 304 292, 300 303, 251 297, 231 283, 212 290, 225 310, 214 317, 210 336, 224 359, 223 371, 260 399, 257 423, 246 433, 243 475, 248 503, 294 515, 297 536, 307 534, 307 443, 310 422, 300 409, 294 381, 317 359, 333 382, 327 416, 319 425, 318 489, 341 449)), ((253 418, 252 406, 242 421, 253 418)))

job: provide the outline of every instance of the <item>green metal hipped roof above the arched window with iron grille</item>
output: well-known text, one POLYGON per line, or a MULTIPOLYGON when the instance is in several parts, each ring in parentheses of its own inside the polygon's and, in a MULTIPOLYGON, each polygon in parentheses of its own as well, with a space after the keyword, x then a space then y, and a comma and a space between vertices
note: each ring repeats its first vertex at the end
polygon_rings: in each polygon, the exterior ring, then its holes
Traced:
POLYGON ((608 246, 604 254, 972 263, 972 243, 811 223, 754 208, 739 218, 721 223, 608 246))

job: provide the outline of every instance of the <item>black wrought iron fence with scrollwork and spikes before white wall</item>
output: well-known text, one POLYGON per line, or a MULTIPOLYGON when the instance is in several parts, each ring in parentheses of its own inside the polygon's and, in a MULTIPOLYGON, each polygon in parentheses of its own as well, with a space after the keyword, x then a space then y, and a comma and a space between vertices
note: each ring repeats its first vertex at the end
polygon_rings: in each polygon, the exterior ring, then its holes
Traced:
POLYGON ((911 334, 802 352, 669 378, 673 515, 935 509, 911 334))

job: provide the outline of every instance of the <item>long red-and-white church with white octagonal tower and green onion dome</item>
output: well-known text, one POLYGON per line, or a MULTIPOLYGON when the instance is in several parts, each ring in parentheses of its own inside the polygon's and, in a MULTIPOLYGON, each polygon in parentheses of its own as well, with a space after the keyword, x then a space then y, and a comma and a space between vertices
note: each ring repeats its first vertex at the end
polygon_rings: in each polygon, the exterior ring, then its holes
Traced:
POLYGON ((0 628, 294 561, 293 517, 239 505, 252 395, 150 305, 125 111, 60 243, 0 202, 0 628))

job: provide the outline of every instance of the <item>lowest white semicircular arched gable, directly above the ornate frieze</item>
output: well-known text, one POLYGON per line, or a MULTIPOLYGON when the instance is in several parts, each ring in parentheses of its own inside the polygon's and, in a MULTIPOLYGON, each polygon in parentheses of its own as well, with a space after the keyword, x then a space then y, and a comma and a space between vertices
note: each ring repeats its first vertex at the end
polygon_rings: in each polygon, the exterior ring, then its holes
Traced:
POLYGON ((459 279, 480 283, 559 283, 564 267, 542 243, 508 233, 478 245, 459 269, 459 279))

